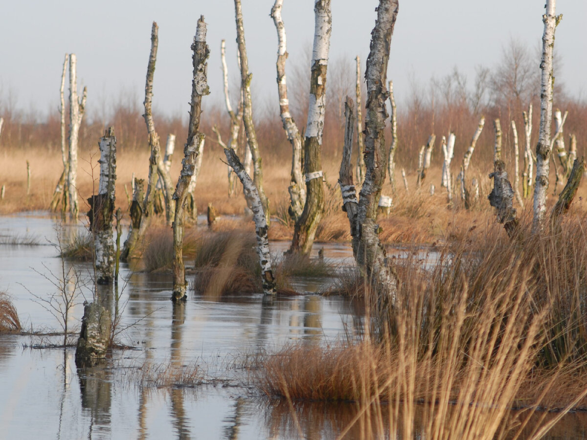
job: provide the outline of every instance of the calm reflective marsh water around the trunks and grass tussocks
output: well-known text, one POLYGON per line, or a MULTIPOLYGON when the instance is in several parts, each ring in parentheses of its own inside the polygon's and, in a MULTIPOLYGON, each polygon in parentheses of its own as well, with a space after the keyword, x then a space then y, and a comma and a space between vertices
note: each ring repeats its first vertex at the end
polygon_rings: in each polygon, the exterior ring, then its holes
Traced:
MULTIPOLYGON (((360 335, 361 310, 315 294, 328 279, 295 280, 303 294, 271 304, 261 295, 216 301, 189 292, 185 305, 174 307, 171 275, 123 266, 118 339, 128 347, 114 350, 104 367, 77 371, 75 348, 48 348, 63 336, 52 335, 59 321, 39 298, 48 299, 64 270, 75 269, 81 283, 66 289, 80 292, 69 316, 69 328, 79 330, 82 303, 92 297, 92 267, 63 262, 55 245, 58 233, 65 240, 82 231, 43 213, 0 217, 0 290, 11 296, 25 330, 37 333, 0 335, 0 439, 320 439, 336 438, 351 421, 352 404, 292 408, 249 385, 256 354, 360 335), (197 384, 150 386, 157 368, 195 372, 197 384)), ((287 245, 272 243, 272 250, 287 245)), ((316 246, 322 247, 326 259, 352 263, 350 246, 316 246)), ((567 415, 551 438, 586 438, 586 426, 584 415, 567 415)))

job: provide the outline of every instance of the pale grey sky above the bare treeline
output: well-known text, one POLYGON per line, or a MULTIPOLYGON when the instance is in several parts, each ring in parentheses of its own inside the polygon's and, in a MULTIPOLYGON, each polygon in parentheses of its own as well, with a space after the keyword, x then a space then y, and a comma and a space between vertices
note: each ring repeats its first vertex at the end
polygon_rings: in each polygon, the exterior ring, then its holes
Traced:
MULTIPOLYGON (((284 2, 288 66, 302 60, 303 50, 311 45, 313 3, 284 2)), ((364 69, 377 4, 376 0, 332 0, 331 60, 359 55, 364 69)), ((276 97, 272 5, 272 0, 242 0, 254 90, 268 99, 276 97)), ((584 98, 587 0, 559 0, 556 12, 564 15, 556 29, 555 48, 564 62, 557 80, 565 83, 568 92, 584 98)), ((511 38, 533 51, 542 36, 542 13, 544 0, 400 0, 388 70, 399 103, 410 91, 410 75, 427 83, 431 76, 447 75, 457 66, 472 82, 475 66, 495 66, 511 38)), ((220 100, 222 38, 227 40, 231 76, 237 75, 232 0, 6 1, 0 16, 0 99, 11 94, 25 111, 56 109, 63 56, 73 52, 78 85, 88 87, 90 115, 108 110, 122 91, 135 93, 141 103, 154 20, 159 25, 154 104, 166 113, 187 117, 190 45, 200 14, 208 23, 210 99, 220 100)))

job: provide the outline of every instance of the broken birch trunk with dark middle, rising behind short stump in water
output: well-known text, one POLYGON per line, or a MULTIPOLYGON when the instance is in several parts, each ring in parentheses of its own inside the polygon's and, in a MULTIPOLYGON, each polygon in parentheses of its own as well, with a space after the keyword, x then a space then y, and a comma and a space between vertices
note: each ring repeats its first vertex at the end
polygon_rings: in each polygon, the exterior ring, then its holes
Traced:
POLYGON ((114 242, 112 219, 116 201, 116 137, 110 127, 100 138, 100 183, 98 194, 87 199, 90 211, 90 232, 94 238, 96 282, 112 283, 114 278, 114 242))

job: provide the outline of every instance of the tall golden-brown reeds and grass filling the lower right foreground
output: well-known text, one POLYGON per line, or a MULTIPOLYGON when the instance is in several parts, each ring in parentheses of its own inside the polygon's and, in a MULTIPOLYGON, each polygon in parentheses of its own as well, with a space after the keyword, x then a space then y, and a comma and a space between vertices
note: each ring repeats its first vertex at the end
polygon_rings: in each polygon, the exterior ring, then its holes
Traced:
MULTIPOLYGON (((565 410, 530 422, 532 412, 585 370, 585 226, 515 241, 495 228, 446 248, 432 270, 408 264, 387 313, 365 286, 362 341, 287 347, 264 358, 259 386, 290 402, 355 402, 340 437, 358 425, 362 438, 539 438, 565 410), (530 411, 510 411, 520 406, 530 411)), ((587 394, 567 388, 566 410, 587 394)))

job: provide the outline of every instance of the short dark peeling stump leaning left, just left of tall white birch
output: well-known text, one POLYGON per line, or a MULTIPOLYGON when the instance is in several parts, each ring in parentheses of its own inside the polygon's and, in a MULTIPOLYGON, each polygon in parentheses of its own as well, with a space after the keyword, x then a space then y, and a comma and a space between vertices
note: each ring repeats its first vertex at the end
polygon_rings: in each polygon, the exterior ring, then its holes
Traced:
POLYGON ((489 175, 489 178, 493 178, 493 189, 487 196, 489 204, 497 209, 497 221, 504 225, 505 232, 512 238, 517 232, 519 223, 512 203, 514 189, 508 180, 504 161, 495 161, 494 171, 489 175))

